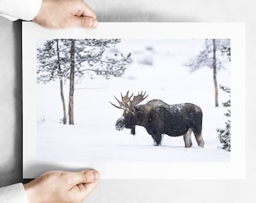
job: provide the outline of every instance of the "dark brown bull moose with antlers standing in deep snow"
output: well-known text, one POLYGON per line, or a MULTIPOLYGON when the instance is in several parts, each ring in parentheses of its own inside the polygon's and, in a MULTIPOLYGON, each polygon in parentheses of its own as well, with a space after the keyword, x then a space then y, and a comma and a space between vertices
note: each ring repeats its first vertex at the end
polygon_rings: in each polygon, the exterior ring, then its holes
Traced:
POLYGON ((111 105, 123 110, 123 116, 115 124, 117 130, 131 129, 132 134, 135 134, 135 126, 144 126, 153 138, 154 146, 161 144, 163 135, 171 137, 183 135, 185 147, 192 146, 193 132, 198 146, 204 147, 203 112, 200 107, 191 103, 168 105, 160 99, 139 105, 147 97, 146 92, 129 95, 129 91, 125 96, 121 93, 121 101, 114 96, 119 106, 110 102, 111 105))

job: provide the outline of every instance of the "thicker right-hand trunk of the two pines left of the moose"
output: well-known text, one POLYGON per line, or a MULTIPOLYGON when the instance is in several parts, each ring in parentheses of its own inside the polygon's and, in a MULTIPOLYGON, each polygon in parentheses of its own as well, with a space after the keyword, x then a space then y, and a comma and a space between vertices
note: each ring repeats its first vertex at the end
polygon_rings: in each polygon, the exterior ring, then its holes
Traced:
POLYGON ((74 125, 74 80, 75 80, 75 40, 70 49, 70 83, 69 83, 69 125, 74 125))

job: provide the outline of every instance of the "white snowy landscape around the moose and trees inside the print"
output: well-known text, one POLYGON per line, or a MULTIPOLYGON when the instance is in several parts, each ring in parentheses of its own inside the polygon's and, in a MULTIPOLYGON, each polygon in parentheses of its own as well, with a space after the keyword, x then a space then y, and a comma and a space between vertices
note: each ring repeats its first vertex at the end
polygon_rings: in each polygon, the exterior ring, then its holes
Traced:
MULTIPOLYGON (((223 128, 228 95, 219 91, 220 107, 215 108, 212 70, 203 68, 190 73, 185 62, 202 49, 203 40, 123 40, 116 49, 131 52, 133 63, 123 77, 106 80, 84 77, 75 86, 75 125, 62 125, 62 103, 59 83, 38 84, 37 159, 58 162, 228 162, 230 153, 218 149, 217 128, 223 128), (151 65, 148 65, 151 64, 151 65), (115 130, 123 113, 109 101, 116 102, 120 92, 148 92, 148 102, 160 98, 169 104, 192 102, 203 109, 205 147, 184 148, 182 137, 163 137, 162 146, 143 127, 115 130)), ((218 72, 218 84, 230 86, 230 71, 218 72)), ((66 103, 69 84, 65 86, 66 103)))

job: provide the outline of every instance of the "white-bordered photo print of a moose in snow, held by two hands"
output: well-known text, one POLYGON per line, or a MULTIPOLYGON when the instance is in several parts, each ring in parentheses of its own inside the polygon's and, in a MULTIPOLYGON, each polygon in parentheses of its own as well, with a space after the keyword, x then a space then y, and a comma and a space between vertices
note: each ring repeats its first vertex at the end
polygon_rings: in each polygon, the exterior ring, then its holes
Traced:
POLYGON ((236 158, 232 110, 241 104, 233 102, 233 35, 180 38, 158 30, 144 37, 145 26, 130 36, 133 23, 129 33, 105 35, 115 23, 109 24, 84 38, 49 31, 33 39, 35 59, 23 63, 23 78, 25 65, 33 63, 28 101, 35 135, 26 145, 29 121, 23 119, 23 151, 26 156, 30 149, 35 163, 27 162, 23 173, 31 177, 37 166, 75 170, 84 165, 103 168, 106 178, 156 178, 155 168, 166 170, 157 178, 172 178, 182 165, 194 171, 214 165, 212 177, 222 177, 220 168, 236 158), (110 168, 129 173, 108 175, 110 168), (133 174, 145 168, 151 168, 145 175, 133 174))

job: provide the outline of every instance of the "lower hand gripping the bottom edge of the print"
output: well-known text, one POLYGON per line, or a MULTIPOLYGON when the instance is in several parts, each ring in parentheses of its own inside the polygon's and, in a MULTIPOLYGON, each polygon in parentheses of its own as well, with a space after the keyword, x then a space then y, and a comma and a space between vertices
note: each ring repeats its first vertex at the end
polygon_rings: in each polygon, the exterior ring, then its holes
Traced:
POLYGON ((49 171, 24 185, 30 203, 78 203, 90 195, 99 180, 99 172, 49 171))

